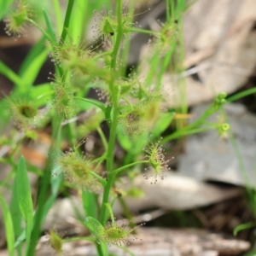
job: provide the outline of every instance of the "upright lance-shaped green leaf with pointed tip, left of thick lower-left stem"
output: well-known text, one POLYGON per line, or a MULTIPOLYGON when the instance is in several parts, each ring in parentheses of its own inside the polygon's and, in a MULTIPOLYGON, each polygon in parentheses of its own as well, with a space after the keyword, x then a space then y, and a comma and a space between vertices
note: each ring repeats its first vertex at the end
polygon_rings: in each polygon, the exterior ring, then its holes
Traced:
POLYGON ((20 212, 26 221, 26 245, 28 248, 33 224, 33 205, 30 183, 27 177, 26 162, 23 156, 20 157, 18 163, 18 171, 16 174, 16 193, 19 201, 20 212))

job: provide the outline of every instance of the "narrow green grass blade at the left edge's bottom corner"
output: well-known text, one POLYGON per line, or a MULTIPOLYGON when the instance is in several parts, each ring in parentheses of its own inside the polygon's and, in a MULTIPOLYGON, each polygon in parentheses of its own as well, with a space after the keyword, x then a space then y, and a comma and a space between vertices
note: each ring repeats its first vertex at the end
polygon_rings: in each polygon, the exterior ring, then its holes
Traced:
POLYGON ((3 196, 0 195, 0 204, 3 210, 3 221, 5 226, 5 234, 8 245, 9 256, 15 256, 15 232, 11 213, 7 203, 4 201, 3 196))

